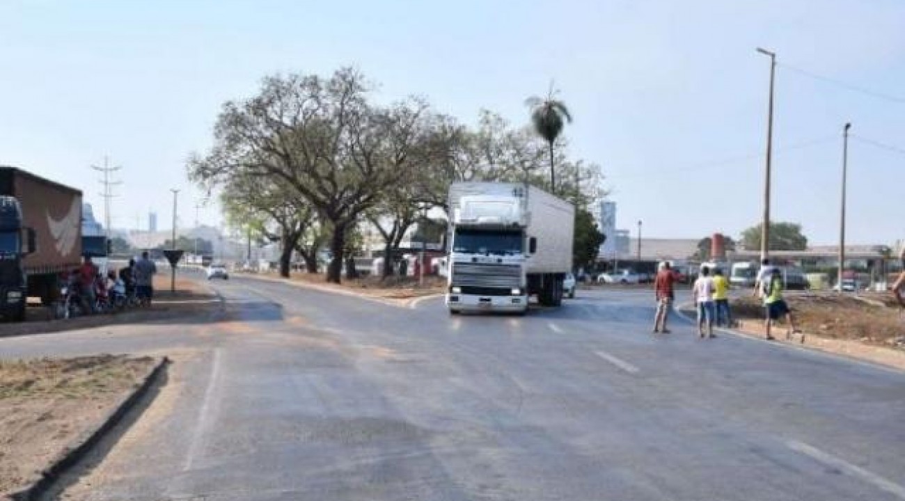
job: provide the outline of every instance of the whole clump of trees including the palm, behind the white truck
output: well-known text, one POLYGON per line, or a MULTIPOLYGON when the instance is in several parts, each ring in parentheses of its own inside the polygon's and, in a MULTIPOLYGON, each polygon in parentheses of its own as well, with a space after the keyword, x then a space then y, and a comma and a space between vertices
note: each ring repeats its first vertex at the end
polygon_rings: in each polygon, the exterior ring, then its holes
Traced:
MULTIPOLYGON (((191 156, 190 177, 219 194, 230 226, 281 242, 282 277, 293 252, 316 273, 329 251, 327 281, 339 283, 344 266, 354 278, 365 232, 395 255, 415 226, 444 224, 431 216, 456 181, 529 183, 575 203, 575 265, 595 260, 603 236, 587 209, 603 176, 569 156, 560 133, 571 115, 553 90, 529 99, 532 128, 486 109, 466 125, 424 98, 385 104, 376 89, 351 68, 267 77, 256 95, 224 103, 213 147, 191 156)), ((387 262, 381 275, 393 271, 387 262)))

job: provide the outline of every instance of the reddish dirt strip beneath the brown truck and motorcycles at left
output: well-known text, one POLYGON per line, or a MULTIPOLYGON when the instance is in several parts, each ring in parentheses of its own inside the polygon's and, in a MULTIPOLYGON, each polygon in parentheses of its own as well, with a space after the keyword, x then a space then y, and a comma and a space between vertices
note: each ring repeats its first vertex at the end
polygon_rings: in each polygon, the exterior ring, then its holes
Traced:
POLYGON ((151 307, 127 308, 121 312, 64 320, 54 319, 49 307, 29 307, 24 322, 0 324, 0 337, 132 324, 161 317, 195 315, 217 306, 213 290, 197 280, 176 277, 176 291, 171 291, 169 270, 166 271, 154 278, 155 303, 151 307))

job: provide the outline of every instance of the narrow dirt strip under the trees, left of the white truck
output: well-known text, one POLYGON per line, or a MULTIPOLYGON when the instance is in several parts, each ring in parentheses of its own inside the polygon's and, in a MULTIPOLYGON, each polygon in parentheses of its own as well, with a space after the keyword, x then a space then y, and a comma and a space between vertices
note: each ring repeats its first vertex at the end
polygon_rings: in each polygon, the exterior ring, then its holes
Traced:
MULTIPOLYGON (((274 273, 263 274, 263 276, 273 279, 278 278, 274 273)), ((293 273, 291 280, 385 299, 421 298, 433 294, 442 294, 446 291, 446 279, 437 276, 424 277, 424 283, 420 285, 418 279, 414 277, 387 277, 386 279, 380 279, 379 277, 344 278, 342 284, 337 285, 328 283, 323 274, 293 273)))

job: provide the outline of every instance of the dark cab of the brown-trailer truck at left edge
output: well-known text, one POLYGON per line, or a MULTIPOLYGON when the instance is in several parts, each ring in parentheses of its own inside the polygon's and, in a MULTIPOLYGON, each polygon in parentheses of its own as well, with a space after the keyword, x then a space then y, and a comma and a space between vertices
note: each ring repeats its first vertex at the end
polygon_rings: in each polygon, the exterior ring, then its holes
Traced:
POLYGON ((0 196, 0 317, 25 317, 27 281, 22 258, 34 250, 34 232, 23 227, 22 209, 11 196, 0 196))

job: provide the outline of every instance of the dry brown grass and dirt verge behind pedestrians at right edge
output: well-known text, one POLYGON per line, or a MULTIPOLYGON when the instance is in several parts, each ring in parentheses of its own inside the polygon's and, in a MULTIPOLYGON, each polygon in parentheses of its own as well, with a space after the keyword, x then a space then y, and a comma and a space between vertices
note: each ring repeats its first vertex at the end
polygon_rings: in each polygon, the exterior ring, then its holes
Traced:
MULTIPOLYGON (((858 341, 865 345, 905 347, 905 317, 890 295, 855 297, 832 292, 787 295, 786 302, 807 336, 858 341)), ((760 321, 764 307, 757 298, 732 301, 733 316, 760 321)))

